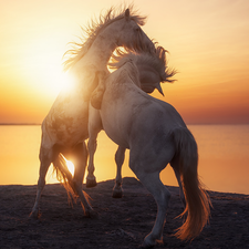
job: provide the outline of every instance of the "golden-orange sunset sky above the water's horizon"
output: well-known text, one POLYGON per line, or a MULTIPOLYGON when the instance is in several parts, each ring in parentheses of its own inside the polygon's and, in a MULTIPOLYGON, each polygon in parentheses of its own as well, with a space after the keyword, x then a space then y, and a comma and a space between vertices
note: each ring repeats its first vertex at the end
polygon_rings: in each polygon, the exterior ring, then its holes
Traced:
MULTIPOLYGON (((40 124, 62 85, 81 25, 114 0, 0 0, 0 123, 40 124)), ((131 1, 126 1, 131 3, 131 1)), ((146 34, 177 70, 165 96, 187 124, 249 124, 249 1, 135 0, 146 34)))

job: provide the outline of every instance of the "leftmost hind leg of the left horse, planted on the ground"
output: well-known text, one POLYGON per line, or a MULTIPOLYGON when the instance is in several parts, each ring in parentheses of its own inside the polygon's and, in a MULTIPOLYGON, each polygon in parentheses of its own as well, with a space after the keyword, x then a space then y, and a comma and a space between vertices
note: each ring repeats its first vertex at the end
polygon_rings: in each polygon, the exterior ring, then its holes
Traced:
MULTIPOLYGON (((52 151, 52 149, 51 149, 52 151)), ((50 149, 44 149, 41 147, 40 149, 40 174, 38 180, 38 190, 37 190, 37 198, 32 211, 30 214, 30 218, 38 218, 39 217, 39 204, 42 190, 45 186, 45 175, 52 163, 52 155, 50 149)))

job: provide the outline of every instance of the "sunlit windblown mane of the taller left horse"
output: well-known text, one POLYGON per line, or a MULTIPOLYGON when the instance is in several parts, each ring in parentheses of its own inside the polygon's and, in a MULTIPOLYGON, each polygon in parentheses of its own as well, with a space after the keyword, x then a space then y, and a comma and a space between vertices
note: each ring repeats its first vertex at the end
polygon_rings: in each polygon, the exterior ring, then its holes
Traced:
POLYGON ((69 70, 85 55, 87 50, 93 44, 95 38, 103 29, 105 29, 111 23, 123 19, 125 17, 125 10, 127 8, 129 9, 129 18, 133 21, 135 21, 138 25, 145 24, 146 17, 138 15, 137 11, 134 10, 133 4, 120 8, 111 7, 104 14, 101 13, 98 19, 92 19, 85 28, 81 27, 83 31, 83 35, 82 38, 80 38, 81 42, 70 42, 73 48, 71 50, 68 50, 63 55, 64 59, 68 56, 68 59, 65 59, 65 61, 63 62, 64 71, 69 70))

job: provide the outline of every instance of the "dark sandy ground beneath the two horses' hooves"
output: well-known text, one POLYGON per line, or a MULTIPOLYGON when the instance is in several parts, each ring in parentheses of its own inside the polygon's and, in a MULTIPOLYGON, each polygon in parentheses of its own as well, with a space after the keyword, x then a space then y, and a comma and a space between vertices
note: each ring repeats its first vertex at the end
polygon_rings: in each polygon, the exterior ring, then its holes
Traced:
MULTIPOLYGON (((156 204, 134 178, 124 178, 124 197, 113 199, 114 181, 84 189, 98 218, 86 218, 80 203, 73 208, 61 185, 46 185, 39 220, 30 220, 37 186, 0 186, 0 248, 139 248, 151 231, 156 204)), ((214 208, 210 224, 191 242, 173 237, 181 225, 177 187, 168 187, 172 199, 164 228, 164 243, 155 248, 249 248, 249 196, 209 191, 214 208)))

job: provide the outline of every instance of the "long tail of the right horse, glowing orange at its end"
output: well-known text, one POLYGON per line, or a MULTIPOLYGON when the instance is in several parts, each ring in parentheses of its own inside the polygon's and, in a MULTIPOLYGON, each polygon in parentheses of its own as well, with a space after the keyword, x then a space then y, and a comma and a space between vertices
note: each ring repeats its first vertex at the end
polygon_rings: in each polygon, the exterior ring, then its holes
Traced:
POLYGON ((210 199, 198 179, 198 149, 196 141, 188 128, 176 128, 173 132, 176 156, 179 160, 179 173, 186 200, 186 208, 180 216, 187 215, 183 226, 175 236, 181 240, 197 237, 209 220, 210 199))

